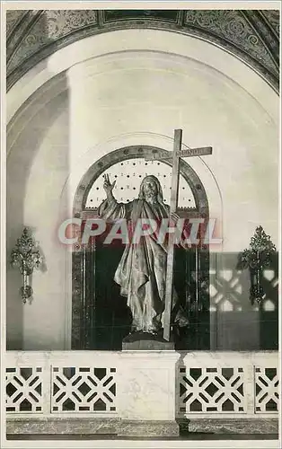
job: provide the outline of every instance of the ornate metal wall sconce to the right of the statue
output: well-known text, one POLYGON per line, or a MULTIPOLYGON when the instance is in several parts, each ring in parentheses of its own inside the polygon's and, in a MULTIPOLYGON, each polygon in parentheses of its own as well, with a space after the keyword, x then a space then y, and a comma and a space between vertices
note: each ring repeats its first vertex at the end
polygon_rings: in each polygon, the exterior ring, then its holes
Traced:
POLYGON ((256 301, 258 304, 262 301, 265 294, 261 286, 262 269, 269 266, 270 255, 276 251, 275 245, 270 241, 262 226, 256 228, 256 232, 251 237, 250 248, 242 251, 239 256, 239 262, 242 269, 250 269, 251 304, 256 301))

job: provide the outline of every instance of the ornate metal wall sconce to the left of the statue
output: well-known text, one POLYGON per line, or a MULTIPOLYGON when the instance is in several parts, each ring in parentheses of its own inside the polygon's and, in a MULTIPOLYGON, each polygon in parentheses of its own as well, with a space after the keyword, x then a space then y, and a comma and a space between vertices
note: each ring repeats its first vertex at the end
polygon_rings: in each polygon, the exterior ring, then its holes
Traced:
POLYGON ((39 269, 42 263, 40 251, 36 248, 36 244, 29 235, 27 228, 23 229, 22 237, 17 239, 15 249, 12 251, 12 266, 18 267, 22 273, 21 295, 23 304, 31 297, 33 291, 29 285, 29 277, 33 269, 39 269))

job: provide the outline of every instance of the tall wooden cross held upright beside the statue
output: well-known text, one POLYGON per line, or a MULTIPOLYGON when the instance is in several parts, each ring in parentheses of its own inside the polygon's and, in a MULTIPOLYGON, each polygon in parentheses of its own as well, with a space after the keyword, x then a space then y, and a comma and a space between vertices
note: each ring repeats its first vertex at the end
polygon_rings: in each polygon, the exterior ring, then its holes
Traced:
MULTIPOLYGON (((181 157, 202 156, 212 154, 211 146, 201 148, 189 148, 181 150, 182 129, 174 130, 173 152, 169 154, 155 154, 150 160, 172 159, 172 194, 170 205, 170 216, 177 212, 178 194, 180 181, 180 161, 181 157)), ((149 159, 149 158, 148 158, 149 159)), ((173 291, 173 272, 174 272, 174 233, 169 233, 168 252, 166 262, 166 281, 165 281, 165 308, 163 315, 163 339, 171 339, 171 319, 172 319, 172 291, 173 291)))

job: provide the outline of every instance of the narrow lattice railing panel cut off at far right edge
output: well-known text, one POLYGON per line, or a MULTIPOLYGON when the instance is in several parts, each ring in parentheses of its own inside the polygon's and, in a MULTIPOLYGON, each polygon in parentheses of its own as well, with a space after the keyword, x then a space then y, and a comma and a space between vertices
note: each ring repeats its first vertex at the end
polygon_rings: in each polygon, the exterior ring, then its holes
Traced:
POLYGON ((265 366, 255 367, 256 413, 278 412, 278 368, 265 366))

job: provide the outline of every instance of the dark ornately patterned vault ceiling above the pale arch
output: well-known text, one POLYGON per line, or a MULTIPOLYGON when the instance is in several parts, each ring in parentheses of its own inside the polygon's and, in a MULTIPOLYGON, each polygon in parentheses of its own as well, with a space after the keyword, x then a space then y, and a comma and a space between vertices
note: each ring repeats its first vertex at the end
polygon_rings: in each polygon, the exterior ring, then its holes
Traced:
POLYGON ((213 42, 252 66, 278 91, 278 10, 10 10, 7 88, 58 48, 127 28, 175 31, 213 42))

